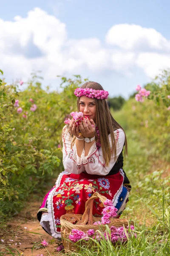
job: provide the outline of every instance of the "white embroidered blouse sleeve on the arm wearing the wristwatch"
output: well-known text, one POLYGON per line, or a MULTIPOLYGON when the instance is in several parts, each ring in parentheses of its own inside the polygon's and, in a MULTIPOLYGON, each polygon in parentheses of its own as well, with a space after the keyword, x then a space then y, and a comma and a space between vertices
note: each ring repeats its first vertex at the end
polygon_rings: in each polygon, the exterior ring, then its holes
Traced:
MULTIPOLYGON (((117 129, 114 131, 114 134, 116 139, 116 157, 119 157, 125 143, 125 133, 122 129, 117 129)), ((111 136, 109 135, 108 137, 111 145, 111 136)), ((116 159, 113 154, 111 155, 109 166, 105 166, 102 148, 100 147, 99 150, 97 150, 96 143, 91 146, 88 156, 83 157, 83 164, 86 172, 94 175, 107 175, 115 163, 116 159)))

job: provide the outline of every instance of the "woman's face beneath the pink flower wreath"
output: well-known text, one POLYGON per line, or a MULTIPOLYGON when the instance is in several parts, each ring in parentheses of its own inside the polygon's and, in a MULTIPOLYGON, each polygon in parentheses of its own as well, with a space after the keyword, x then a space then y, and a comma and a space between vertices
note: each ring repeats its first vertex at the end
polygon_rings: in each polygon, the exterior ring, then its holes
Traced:
POLYGON ((96 102, 94 99, 82 96, 79 99, 79 111, 96 122, 96 102))

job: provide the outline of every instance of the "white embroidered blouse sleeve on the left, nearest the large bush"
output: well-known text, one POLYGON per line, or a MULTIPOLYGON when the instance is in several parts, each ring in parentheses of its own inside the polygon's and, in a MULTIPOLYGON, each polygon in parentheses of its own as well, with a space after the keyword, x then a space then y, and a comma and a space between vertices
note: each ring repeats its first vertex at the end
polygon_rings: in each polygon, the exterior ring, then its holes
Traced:
POLYGON ((62 132, 62 153, 63 159, 62 163, 65 168, 65 171, 71 172, 74 174, 79 174, 85 170, 85 167, 82 164, 82 158, 77 154, 77 148, 74 144, 73 148, 71 148, 72 137, 68 132, 67 126, 65 125, 62 132))

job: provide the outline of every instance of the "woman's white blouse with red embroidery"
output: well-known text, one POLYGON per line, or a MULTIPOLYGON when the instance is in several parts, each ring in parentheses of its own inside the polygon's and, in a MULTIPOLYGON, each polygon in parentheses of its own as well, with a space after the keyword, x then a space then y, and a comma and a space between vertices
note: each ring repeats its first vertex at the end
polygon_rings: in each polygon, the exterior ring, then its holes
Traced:
MULTIPOLYGON (((116 139, 116 157, 118 158, 125 143, 125 133, 119 128, 114 131, 114 134, 116 139)), ((108 135, 108 138, 111 145, 110 134, 108 135)), ((88 174, 92 175, 107 175, 111 171, 112 167, 116 163, 114 154, 111 155, 109 166, 105 166, 102 148, 100 147, 98 150, 96 143, 91 146, 88 156, 85 156, 85 150, 83 149, 82 155, 79 157, 76 145, 74 144, 73 148, 71 148, 71 140, 72 137, 67 132, 67 127, 65 126, 62 134, 62 153, 65 171, 74 174, 80 174, 81 172, 86 171, 88 174)))

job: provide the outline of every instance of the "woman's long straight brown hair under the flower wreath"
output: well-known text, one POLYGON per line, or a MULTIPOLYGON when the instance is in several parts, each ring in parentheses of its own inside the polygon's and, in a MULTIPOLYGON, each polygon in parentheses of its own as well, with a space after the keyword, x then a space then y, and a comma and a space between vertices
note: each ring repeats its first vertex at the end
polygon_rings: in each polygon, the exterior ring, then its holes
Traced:
MULTIPOLYGON (((102 85, 96 82, 86 82, 81 86, 81 88, 92 88, 94 90, 104 90, 102 85)), ((77 98, 77 108, 79 110, 79 99, 77 98)), ((95 99, 96 102, 96 125, 99 129, 99 134, 100 134, 100 143, 102 147, 102 154, 105 159, 106 166, 109 165, 109 162, 111 160, 111 154, 113 155, 116 159, 116 139, 114 137, 114 131, 118 128, 121 128, 123 131, 124 129, 122 128, 121 125, 119 125, 118 122, 113 118, 111 115, 111 111, 108 107, 108 103, 106 102, 105 99, 95 99), (101 118, 102 117, 102 118, 101 118), (109 139, 108 139, 108 134, 111 134, 111 142, 112 145, 110 146, 109 139), (112 150, 111 150, 112 149, 112 150)), ((125 131, 124 131, 125 133, 125 131)), ((75 136, 72 140, 72 145, 74 144, 75 141, 75 136)), ((125 153, 124 156, 127 156, 127 139, 126 139, 126 134, 125 134, 125 153)), ((117 159, 116 159, 117 160, 117 159)))

